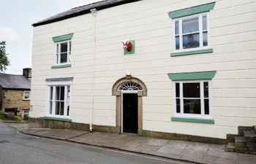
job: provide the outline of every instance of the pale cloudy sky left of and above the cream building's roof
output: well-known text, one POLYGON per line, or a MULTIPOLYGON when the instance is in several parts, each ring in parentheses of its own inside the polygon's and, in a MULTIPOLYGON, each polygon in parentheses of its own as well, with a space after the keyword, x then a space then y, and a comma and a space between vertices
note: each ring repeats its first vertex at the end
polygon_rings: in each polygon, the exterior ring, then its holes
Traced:
POLYGON ((7 74, 31 68, 33 23, 73 7, 100 0, 0 0, 0 42, 6 41, 7 74))

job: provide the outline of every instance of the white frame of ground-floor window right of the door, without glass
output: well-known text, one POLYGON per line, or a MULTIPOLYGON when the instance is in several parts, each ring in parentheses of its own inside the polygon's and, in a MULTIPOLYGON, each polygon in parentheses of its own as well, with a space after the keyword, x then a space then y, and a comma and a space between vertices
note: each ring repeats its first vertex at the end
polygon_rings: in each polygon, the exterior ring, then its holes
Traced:
MULTIPOLYGON (((186 98, 185 98, 186 99, 186 98)), ((211 118, 212 117, 212 107, 211 107, 211 80, 189 80, 189 81, 176 81, 173 82, 173 114, 176 117, 192 117, 192 118, 211 118), (204 90, 203 90, 203 82, 208 82, 208 101, 209 101, 209 114, 205 114, 205 106, 204 106, 204 90), (177 113, 176 110, 176 83, 180 83, 180 113, 177 113), (200 83, 200 106, 201 106, 201 114, 184 114, 184 97, 183 97, 183 83, 200 83)))

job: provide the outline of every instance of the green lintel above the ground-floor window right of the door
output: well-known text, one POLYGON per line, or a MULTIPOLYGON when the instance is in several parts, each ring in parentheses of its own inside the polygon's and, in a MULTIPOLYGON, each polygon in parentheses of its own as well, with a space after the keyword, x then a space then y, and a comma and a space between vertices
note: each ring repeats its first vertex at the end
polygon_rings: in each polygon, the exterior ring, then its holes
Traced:
POLYGON ((213 79, 217 71, 196 71, 184 73, 170 73, 169 79, 176 80, 192 80, 192 79, 213 79))

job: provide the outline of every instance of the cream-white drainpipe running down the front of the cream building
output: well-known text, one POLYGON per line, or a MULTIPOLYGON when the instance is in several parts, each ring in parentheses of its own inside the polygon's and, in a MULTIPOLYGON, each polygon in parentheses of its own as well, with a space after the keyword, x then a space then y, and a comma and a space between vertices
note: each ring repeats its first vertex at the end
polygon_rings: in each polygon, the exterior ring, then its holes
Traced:
POLYGON ((92 132, 94 129, 92 128, 93 115, 94 115, 94 58, 96 55, 96 15, 97 9, 91 9, 91 14, 94 17, 94 54, 92 58, 92 70, 91 70, 91 122, 90 122, 90 131, 92 132))

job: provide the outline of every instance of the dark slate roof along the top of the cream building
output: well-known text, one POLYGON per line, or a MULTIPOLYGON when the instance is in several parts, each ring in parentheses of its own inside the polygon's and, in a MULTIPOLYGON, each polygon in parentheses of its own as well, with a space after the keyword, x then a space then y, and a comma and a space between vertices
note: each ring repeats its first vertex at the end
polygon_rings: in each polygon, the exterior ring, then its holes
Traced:
POLYGON ((76 17, 78 15, 84 15, 87 14, 89 12, 91 12, 91 9, 106 9, 106 8, 110 8, 110 7, 116 7, 118 5, 121 4, 128 4, 128 3, 132 3, 135 1, 141 1, 141 0, 105 0, 105 1, 98 1, 95 2, 93 4, 86 4, 84 6, 80 6, 80 7, 75 7, 72 9, 67 10, 66 12, 61 12, 57 15, 53 15, 52 17, 48 17, 44 20, 40 20, 37 23, 34 23, 32 26, 41 26, 41 25, 45 25, 48 23, 53 23, 53 22, 57 22, 60 20, 65 20, 68 19, 70 17, 76 17))

